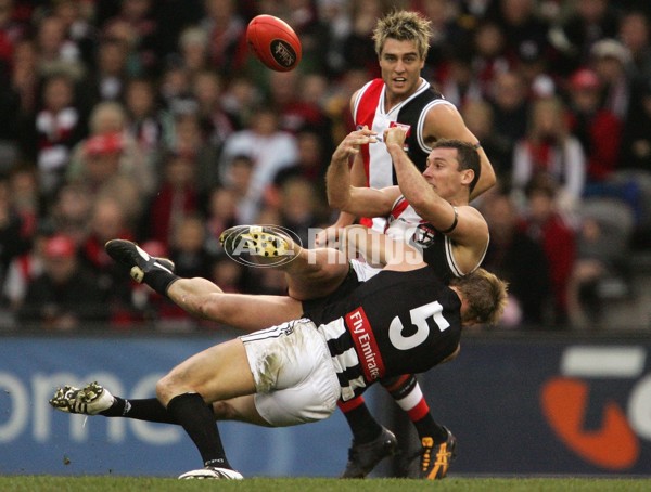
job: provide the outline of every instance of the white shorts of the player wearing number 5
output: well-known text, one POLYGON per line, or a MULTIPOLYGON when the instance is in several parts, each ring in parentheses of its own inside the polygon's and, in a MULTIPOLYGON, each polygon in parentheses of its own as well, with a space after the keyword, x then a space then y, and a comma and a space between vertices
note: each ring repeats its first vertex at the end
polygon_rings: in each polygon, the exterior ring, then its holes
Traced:
POLYGON ((332 415, 341 387, 328 345, 311 321, 291 321, 240 339, 255 380, 255 407, 271 426, 332 415))

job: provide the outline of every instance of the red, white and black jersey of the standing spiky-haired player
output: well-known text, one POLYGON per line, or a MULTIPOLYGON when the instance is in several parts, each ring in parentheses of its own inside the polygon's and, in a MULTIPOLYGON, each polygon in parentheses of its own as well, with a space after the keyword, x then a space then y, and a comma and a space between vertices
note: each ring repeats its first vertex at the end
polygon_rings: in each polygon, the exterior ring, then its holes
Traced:
MULTIPOLYGON (((382 79, 367 82, 353 102, 353 117, 357 129, 365 125, 378 132, 376 143, 361 146, 361 157, 367 177, 367 185, 382 189, 398 184, 391 155, 383 142, 384 130, 400 126, 407 138, 405 151, 421 171, 425 170, 427 155, 432 151, 423 137, 425 116, 436 104, 450 104, 442 94, 435 92, 430 83, 421 79, 418 90, 405 101, 385 111, 386 86, 382 79)), ((382 231, 383 223, 373 229, 382 231)))

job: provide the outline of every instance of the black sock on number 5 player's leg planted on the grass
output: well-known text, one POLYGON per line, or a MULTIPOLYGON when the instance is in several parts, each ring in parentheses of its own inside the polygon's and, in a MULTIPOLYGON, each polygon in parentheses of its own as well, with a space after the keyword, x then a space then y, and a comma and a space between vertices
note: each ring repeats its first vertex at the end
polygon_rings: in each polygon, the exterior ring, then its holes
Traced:
POLYGON ((226 458, 213 410, 204 403, 201 394, 183 393, 174 397, 167 404, 167 411, 183 426, 199 450, 204 466, 231 468, 226 458))

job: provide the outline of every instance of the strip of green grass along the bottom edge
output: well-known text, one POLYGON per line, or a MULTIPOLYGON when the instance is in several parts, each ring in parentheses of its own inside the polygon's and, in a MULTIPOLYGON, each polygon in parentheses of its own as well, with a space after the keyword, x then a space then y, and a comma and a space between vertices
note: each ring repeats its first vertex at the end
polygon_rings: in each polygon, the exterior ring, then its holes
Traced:
POLYGON ((651 479, 599 478, 446 478, 439 482, 408 479, 252 478, 243 481, 130 477, 0 477, 2 492, 78 491, 251 491, 251 492, 647 492, 651 479))

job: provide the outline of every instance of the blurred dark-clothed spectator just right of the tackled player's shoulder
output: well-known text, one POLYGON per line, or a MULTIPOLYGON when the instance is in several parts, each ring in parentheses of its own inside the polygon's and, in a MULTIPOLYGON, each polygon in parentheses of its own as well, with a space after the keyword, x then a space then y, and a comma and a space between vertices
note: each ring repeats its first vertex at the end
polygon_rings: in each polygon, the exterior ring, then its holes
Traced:
POLYGON ((514 204, 499 190, 484 195, 482 212, 490 244, 482 266, 509 283, 508 327, 541 328, 549 321, 549 267, 542 246, 522 229, 514 204))

